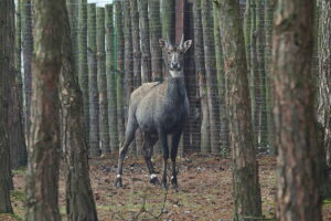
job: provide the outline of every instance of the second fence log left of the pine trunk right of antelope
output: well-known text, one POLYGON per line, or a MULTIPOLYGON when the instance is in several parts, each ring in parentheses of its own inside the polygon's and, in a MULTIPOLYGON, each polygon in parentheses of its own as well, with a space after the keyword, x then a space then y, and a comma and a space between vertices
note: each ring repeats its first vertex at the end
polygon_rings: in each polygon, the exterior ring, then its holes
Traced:
POLYGON ((217 73, 215 70, 215 41, 213 34, 213 8, 211 0, 202 0, 202 28, 204 44, 204 64, 206 73, 209 115, 211 124, 211 150, 220 154, 220 107, 217 73))

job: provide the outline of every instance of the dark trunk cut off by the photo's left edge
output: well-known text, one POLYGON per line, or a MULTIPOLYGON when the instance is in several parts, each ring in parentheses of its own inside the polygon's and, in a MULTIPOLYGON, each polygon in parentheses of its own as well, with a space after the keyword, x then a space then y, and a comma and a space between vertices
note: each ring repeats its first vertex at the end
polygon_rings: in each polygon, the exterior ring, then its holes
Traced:
POLYGON ((10 150, 8 139, 9 78, 15 75, 14 1, 0 2, 0 213, 12 213, 10 202, 10 150))

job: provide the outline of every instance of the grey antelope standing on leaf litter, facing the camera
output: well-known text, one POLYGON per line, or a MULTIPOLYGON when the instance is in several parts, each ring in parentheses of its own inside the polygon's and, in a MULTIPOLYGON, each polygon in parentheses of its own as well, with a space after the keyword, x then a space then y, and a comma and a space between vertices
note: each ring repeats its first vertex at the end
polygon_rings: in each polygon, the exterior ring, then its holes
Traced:
POLYGON ((128 113, 128 123, 125 134, 125 140, 119 149, 118 170, 115 186, 122 187, 122 162, 128 147, 135 138, 138 127, 143 134, 143 156, 147 164, 150 182, 159 185, 151 154, 153 145, 160 139, 163 152, 163 172, 162 187, 167 188, 167 165, 169 159, 168 135, 172 135, 171 141, 171 162, 172 177, 171 185, 178 188, 175 158, 178 145, 184 127, 185 119, 189 116, 189 101, 184 83, 183 62, 184 53, 192 44, 192 40, 184 42, 182 36, 178 46, 172 45, 169 41, 159 40, 160 46, 167 52, 167 65, 170 76, 163 82, 152 82, 142 84, 135 90, 130 96, 128 113))

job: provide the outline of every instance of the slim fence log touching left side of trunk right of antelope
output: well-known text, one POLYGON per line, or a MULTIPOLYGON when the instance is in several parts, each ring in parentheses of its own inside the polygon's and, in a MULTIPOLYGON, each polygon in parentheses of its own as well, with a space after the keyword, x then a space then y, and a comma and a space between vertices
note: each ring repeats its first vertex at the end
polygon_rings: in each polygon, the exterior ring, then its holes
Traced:
POLYGON ((216 3, 213 7, 214 15, 214 40, 215 40, 215 57, 217 69, 217 85, 218 85, 218 97, 220 97, 220 138, 222 152, 228 150, 228 122, 226 118, 226 106, 225 106, 225 80, 224 80, 224 67, 223 67, 223 50, 222 50, 222 36, 221 36, 221 24, 220 24, 220 12, 216 8, 216 3))

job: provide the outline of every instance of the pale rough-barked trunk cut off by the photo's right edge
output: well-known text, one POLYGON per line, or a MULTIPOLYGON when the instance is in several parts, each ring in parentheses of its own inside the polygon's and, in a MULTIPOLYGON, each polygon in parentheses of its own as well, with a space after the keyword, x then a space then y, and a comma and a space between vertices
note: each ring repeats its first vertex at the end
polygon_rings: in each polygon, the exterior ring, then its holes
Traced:
POLYGON ((319 122, 324 128, 327 162, 331 167, 331 2, 320 3, 319 122))

